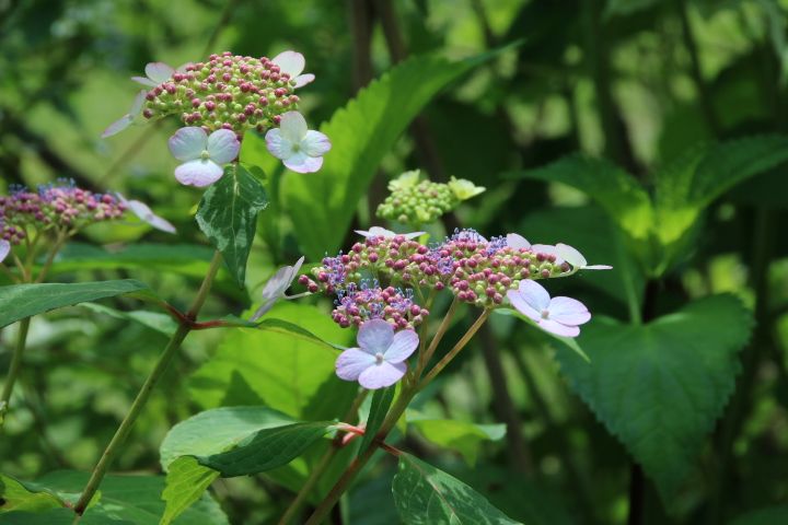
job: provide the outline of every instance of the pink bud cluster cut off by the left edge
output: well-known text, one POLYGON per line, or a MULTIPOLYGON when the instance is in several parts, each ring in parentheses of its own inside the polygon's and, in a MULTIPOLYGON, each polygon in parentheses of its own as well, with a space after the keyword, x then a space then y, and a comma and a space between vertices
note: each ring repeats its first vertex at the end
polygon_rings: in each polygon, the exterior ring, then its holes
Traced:
POLYGON ((78 188, 72 180, 42 185, 37 191, 12 187, 11 195, 0 196, 0 238, 20 244, 28 229, 74 231, 118 219, 125 211, 126 205, 116 197, 78 188))

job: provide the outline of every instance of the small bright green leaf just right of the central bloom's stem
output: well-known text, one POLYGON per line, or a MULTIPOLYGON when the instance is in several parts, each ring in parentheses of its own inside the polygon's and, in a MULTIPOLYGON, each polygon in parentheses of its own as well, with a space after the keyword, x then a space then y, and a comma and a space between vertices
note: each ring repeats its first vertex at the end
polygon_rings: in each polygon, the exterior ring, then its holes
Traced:
POLYGON ((506 435, 506 424, 475 424, 453 419, 412 419, 413 427, 429 442, 459 452, 470 466, 476 464, 478 451, 485 441, 499 441, 506 435))

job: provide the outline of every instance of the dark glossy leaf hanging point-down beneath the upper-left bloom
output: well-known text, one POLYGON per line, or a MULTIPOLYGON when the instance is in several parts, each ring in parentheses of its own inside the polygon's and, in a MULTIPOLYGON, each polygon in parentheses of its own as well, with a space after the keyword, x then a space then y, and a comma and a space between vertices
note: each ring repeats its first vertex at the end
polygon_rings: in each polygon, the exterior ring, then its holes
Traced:
POLYGON ((221 252, 239 285, 246 279, 246 261, 257 229, 257 214, 268 206, 265 188, 244 166, 231 164, 202 196, 197 224, 221 252))

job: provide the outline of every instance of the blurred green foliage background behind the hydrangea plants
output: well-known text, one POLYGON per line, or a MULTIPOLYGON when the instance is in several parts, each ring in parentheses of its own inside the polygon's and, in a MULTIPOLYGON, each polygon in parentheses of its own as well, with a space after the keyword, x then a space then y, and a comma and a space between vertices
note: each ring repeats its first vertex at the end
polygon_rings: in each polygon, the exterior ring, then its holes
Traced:
MULTIPOLYGON (((520 42, 429 104, 384 159, 355 224, 374 223, 369 209, 385 197, 386 178, 421 167, 436 180, 454 175, 488 188, 459 210, 462 225, 486 235, 517 231, 537 243, 566 238, 591 262, 606 262, 613 259, 604 236, 610 223, 587 197, 508 173, 583 151, 616 162, 648 187, 649 173, 696 144, 785 131, 787 32, 785 0, 0 0, 2 185, 70 177, 147 201, 175 223, 176 238, 130 225, 96 226, 69 247, 53 280, 134 277, 183 305, 211 252, 199 246, 193 220, 199 192, 172 176, 176 161, 166 139, 177 122, 100 138, 128 110, 136 93, 128 78, 147 62, 299 50, 316 75, 299 92, 314 128, 408 56, 462 58, 520 42), (103 264, 89 246, 113 250, 132 242, 140 245, 121 262, 103 264)), ((321 206, 318 195, 314 206, 321 206)), ((774 516, 786 516, 785 506, 775 508, 788 502, 786 208, 784 168, 735 187, 712 208, 693 257, 665 281, 665 310, 711 292, 740 295, 758 314, 764 348, 750 366, 743 405, 725 416, 737 419, 731 457, 723 459, 720 447, 728 442, 717 430, 670 514, 647 487, 645 523, 733 523, 738 516, 735 523, 779 523, 774 516), (763 235, 768 264, 758 281, 753 245, 763 235), (757 514, 762 508, 775 513, 757 514)), ((275 266, 299 256, 287 214, 275 221, 274 234, 270 225, 260 229, 248 290, 239 291, 224 275, 210 313, 248 307, 275 266)), ((627 316, 615 275, 584 276, 566 288, 594 312, 627 316)), ((313 302, 323 310, 329 304, 313 302)), ((138 307, 126 300, 115 306, 138 307)), ((407 445, 525 523, 626 523, 625 450, 568 389, 543 339, 512 330, 511 319, 495 320, 498 363, 466 351, 441 392, 418 408, 506 422, 508 438, 485 442, 475 465, 418 432, 408 434, 407 445)), ((13 329, 3 330, 3 342, 12 336, 13 329)), ((195 388, 199 374, 192 374, 211 363, 220 345, 232 346, 223 338, 189 338, 185 359, 154 395, 118 470, 159 471, 165 432, 213 402, 195 388)), ((0 471, 34 479, 56 468, 91 468, 164 342, 146 325, 84 307, 36 317, 19 408, 0 440, 0 471)), ((5 345, 0 369, 9 357, 5 345)), ((382 462, 354 491, 345 508, 349 523, 395 523, 392 470, 382 462)), ((215 492, 231 523, 250 524, 271 523, 289 494, 264 477, 221 480, 215 492)))

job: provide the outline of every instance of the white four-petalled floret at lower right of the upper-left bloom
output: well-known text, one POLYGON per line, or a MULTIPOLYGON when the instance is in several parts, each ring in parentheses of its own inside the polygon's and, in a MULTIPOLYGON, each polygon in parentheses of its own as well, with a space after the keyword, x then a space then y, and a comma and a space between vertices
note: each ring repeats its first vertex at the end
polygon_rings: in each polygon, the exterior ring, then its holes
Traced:
POLYGON ((320 170, 331 145, 328 137, 306 128, 306 120, 298 112, 283 114, 279 127, 266 133, 268 151, 298 173, 320 170))

